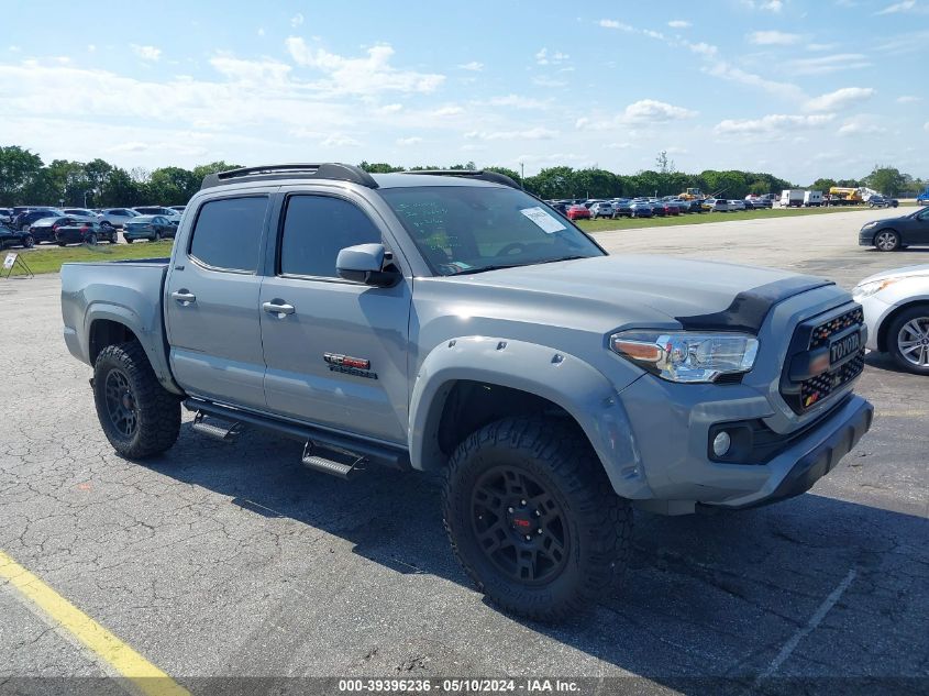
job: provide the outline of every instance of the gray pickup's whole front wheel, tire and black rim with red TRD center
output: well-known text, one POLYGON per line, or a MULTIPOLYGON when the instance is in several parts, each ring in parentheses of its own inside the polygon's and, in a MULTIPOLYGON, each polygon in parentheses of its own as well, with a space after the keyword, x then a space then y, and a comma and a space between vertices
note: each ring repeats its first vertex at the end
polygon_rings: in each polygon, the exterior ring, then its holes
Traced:
POLYGON ((560 621, 624 567, 629 502, 613 493, 583 433, 556 420, 485 426, 449 463, 442 511, 452 549, 505 610, 560 621))

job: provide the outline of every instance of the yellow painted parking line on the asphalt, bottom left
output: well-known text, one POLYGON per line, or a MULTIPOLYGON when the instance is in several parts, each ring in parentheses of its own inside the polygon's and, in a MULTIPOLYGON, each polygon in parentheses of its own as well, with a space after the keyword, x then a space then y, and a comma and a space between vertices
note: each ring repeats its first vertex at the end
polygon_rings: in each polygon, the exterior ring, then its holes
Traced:
POLYGON ((2 581, 7 581, 27 604, 41 609, 54 626, 67 631, 117 674, 129 680, 134 691, 145 696, 190 696, 170 676, 0 551, 2 581))

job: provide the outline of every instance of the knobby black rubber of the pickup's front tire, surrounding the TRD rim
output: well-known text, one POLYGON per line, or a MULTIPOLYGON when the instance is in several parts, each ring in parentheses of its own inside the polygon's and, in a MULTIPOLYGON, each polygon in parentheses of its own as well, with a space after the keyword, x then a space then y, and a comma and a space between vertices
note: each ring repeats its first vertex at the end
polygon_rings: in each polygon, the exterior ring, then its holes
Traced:
POLYGON ((452 550, 477 588, 501 609, 534 620, 582 612, 612 586, 629 554, 629 501, 616 495, 584 434, 554 419, 507 418, 472 433, 446 468, 442 512, 452 550), (526 472, 561 508, 566 561, 545 584, 508 577, 480 548, 472 496, 497 466, 526 472))

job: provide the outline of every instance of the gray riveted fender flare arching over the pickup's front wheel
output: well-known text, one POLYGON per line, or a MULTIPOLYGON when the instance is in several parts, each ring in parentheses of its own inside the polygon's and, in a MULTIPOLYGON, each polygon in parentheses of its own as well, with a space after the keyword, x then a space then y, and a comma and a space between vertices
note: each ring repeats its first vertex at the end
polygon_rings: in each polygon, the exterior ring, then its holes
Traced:
POLYGON ((423 361, 410 399, 408 444, 413 468, 445 466, 457 442, 486 424, 482 421, 487 418, 468 417, 468 407, 488 404, 494 420, 526 413, 571 419, 617 494, 652 497, 615 385, 564 351, 502 338, 452 339, 423 361))

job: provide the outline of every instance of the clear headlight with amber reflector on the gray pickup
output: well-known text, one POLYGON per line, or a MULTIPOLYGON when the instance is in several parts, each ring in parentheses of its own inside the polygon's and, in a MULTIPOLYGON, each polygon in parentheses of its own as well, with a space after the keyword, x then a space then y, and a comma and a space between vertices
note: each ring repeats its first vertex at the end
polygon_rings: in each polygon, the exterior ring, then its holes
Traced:
POLYGON ((623 331, 610 347, 668 382, 714 382, 720 375, 749 372, 757 339, 743 333, 623 331))

